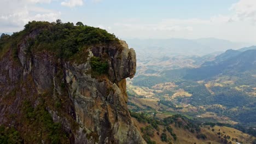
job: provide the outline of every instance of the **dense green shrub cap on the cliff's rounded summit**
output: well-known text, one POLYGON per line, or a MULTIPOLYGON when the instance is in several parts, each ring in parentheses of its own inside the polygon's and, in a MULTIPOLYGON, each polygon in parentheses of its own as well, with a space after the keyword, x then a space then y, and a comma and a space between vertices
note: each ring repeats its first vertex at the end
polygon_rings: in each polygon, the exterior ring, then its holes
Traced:
POLYGON ((30 22, 25 26, 25 31, 40 29, 38 38, 33 48, 53 51, 62 58, 72 57, 75 53, 83 51, 84 46, 95 44, 119 43, 114 35, 107 31, 90 26, 74 26, 73 23, 30 22))

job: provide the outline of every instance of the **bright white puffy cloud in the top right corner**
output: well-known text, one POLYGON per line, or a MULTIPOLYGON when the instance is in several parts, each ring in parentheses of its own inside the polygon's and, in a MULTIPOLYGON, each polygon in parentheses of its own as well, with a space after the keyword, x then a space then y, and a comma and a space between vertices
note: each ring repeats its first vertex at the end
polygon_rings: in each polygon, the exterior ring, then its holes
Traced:
POLYGON ((231 17, 231 21, 246 21, 249 20, 256 24, 256 1, 255 0, 240 0, 232 4, 230 10, 235 11, 235 15, 231 17))

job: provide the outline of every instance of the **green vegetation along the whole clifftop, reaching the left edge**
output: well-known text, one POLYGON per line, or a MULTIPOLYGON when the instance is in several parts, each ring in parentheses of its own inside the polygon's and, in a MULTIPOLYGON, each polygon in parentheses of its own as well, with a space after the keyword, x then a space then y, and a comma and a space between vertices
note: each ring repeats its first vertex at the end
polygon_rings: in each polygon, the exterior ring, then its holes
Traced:
POLYGON ((95 45, 117 45, 119 40, 113 34, 106 30, 84 26, 78 22, 77 26, 73 23, 32 21, 25 25, 24 31, 14 33, 13 35, 2 34, 0 39, 0 51, 5 49, 15 49, 18 46, 17 41, 26 38, 28 53, 38 51, 49 51, 55 53, 59 58, 72 58, 78 53, 84 53, 90 46, 95 45))

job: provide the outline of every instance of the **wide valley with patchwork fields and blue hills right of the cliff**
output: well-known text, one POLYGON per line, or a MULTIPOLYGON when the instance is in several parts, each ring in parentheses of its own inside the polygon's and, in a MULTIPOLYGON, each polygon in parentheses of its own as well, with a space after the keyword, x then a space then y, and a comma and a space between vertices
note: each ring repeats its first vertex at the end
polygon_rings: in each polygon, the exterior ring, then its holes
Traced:
MULTIPOLYGON (((207 132, 205 123, 217 129, 240 130, 237 137, 243 137, 240 133, 256 136, 255 47, 205 57, 164 56, 156 58, 158 61, 138 62, 136 76, 127 80, 129 109, 159 119, 182 115, 199 124, 211 139, 213 131, 207 132)), ((177 137, 183 139, 182 135, 177 137)), ((211 139, 208 142, 223 143, 211 139)))

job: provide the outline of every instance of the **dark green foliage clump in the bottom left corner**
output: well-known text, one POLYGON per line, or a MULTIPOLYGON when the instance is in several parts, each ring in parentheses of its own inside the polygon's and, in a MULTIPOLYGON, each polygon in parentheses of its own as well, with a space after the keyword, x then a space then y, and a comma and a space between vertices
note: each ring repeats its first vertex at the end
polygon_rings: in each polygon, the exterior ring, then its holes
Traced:
POLYGON ((0 143, 2 144, 19 144, 24 143, 20 132, 15 130, 14 127, 0 126, 0 143))

